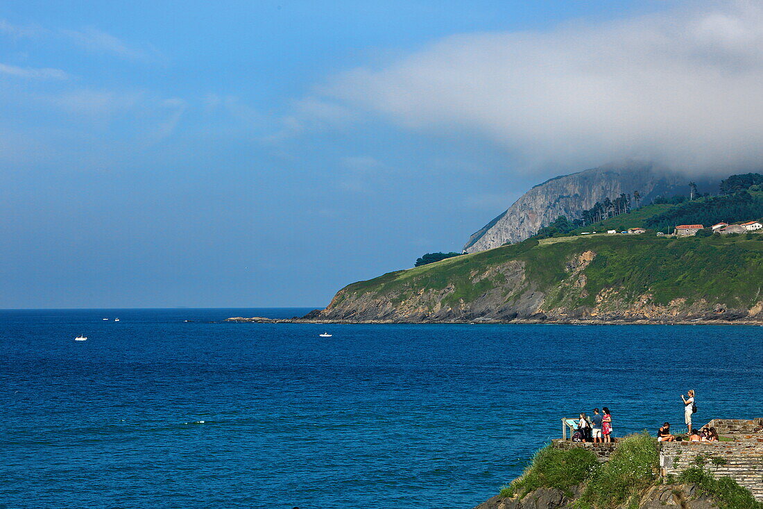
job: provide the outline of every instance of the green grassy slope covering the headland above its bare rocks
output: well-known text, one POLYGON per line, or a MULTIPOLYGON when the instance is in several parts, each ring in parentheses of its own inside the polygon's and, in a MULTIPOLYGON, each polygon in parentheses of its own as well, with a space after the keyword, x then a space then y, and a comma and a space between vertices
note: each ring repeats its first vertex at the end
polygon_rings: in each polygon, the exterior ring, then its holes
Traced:
POLYGON ((565 264, 587 250, 597 253, 597 257, 584 271, 588 297, 572 303, 575 306, 591 306, 597 293, 606 287, 617 287, 620 297, 626 300, 649 290, 655 301, 663 304, 685 297, 689 303, 705 298, 728 306, 748 307, 761 294, 763 235, 755 235, 754 239, 586 235, 541 242, 530 239, 390 272, 349 285, 344 298, 349 293, 372 291, 378 296, 388 295, 396 303, 417 290, 441 290, 452 284, 456 290, 445 303, 456 303, 459 299, 468 302, 505 280, 496 274, 473 284, 472 274, 484 273, 510 260, 523 261, 529 282, 539 290, 549 291, 568 276, 565 264))

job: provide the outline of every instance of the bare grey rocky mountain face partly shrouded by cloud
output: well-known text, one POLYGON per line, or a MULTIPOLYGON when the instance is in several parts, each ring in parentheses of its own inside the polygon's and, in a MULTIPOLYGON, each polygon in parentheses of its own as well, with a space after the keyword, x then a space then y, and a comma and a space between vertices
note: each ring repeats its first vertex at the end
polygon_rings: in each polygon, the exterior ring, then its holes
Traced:
MULTIPOLYGON (((638 163, 609 164, 555 177, 524 193, 501 216, 472 234, 464 250, 474 253, 523 241, 559 216, 578 219, 596 202, 617 198, 620 193, 638 191, 641 203, 660 195, 688 194, 689 180, 686 175, 638 163)), ((712 186, 699 181, 697 184, 703 190, 712 186)))

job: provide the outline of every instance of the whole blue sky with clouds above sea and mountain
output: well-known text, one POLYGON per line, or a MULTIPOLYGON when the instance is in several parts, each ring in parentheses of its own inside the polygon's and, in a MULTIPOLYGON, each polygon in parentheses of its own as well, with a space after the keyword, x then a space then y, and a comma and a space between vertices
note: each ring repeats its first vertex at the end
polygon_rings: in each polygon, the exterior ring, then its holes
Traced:
POLYGON ((0 308, 327 305, 530 186, 763 156, 755 2, 0 4, 0 308))

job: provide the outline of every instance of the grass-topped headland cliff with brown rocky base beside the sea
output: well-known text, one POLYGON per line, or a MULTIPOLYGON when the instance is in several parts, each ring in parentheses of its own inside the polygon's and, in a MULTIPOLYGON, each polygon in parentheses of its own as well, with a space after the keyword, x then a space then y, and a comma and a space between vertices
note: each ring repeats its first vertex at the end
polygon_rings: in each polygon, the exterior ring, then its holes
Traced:
POLYGON ((529 239, 349 284, 317 321, 763 323, 763 235, 529 239))

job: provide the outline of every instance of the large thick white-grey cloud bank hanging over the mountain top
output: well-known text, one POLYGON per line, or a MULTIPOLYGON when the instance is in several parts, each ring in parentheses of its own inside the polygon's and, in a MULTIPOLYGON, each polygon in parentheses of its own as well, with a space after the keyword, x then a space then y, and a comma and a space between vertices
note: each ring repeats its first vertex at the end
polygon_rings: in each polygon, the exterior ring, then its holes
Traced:
MULTIPOLYGON (((550 31, 448 37, 336 76, 303 104, 404 128, 479 133, 539 163, 679 169, 763 160, 763 8, 703 4, 550 31)), ((304 128, 311 112, 292 119, 304 128)), ((314 118, 324 118, 320 109, 314 118)))

